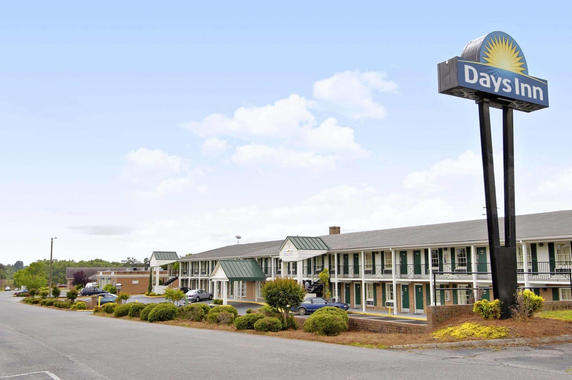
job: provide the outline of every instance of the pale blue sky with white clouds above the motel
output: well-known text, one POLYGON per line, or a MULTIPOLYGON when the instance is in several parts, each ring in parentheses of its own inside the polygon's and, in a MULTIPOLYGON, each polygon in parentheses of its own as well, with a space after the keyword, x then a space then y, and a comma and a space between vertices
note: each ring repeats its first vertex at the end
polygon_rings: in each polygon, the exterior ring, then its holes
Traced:
POLYGON ((570 209, 569 5, 439 8, 6 3, 0 262, 481 218, 476 105, 436 65, 493 30, 549 81, 515 114, 517 213, 570 209))

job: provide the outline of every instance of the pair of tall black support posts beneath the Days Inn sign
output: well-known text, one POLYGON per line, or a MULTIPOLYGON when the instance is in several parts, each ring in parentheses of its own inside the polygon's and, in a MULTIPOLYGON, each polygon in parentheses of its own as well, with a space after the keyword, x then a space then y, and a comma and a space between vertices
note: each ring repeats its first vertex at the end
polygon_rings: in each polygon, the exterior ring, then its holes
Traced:
POLYGON ((491 258, 492 293, 501 300, 501 318, 510 318, 510 307, 517 291, 517 241, 514 206, 514 133, 513 109, 503 106, 503 168, 505 193, 505 246, 499 238, 496 211, 495 173, 492 160, 490 103, 477 101, 479 106, 480 147, 483 158, 484 200, 487 209, 488 248, 491 258))

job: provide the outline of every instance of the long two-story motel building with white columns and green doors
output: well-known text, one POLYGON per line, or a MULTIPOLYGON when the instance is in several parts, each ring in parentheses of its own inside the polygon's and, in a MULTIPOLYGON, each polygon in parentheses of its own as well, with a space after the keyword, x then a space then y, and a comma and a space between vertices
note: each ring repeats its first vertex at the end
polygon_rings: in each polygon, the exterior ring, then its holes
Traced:
MULTIPOLYGON (((503 236, 502 220, 499 226, 503 236)), ((572 300, 571 288, 564 287, 572 286, 571 240, 572 210, 517 216, 519 286, 547 301, 572 300)), ((267 281, 315 283, 327 267, 332 297, 363 311, 392 306, 394 313, 423 314, 432 301, 453 305, 493 297, 486 219, 345 234, 335 226, 323 236, 225 246, 180 259, 180 286, 263 301, 260 279, 210 278, 220 260, 245 259, 255 260, 267 281)))

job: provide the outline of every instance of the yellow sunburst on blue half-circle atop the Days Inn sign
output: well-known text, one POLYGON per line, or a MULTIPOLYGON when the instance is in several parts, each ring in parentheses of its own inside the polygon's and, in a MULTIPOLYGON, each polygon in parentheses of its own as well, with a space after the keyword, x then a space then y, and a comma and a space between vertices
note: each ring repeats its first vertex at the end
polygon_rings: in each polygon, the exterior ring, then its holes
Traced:
POLYGON ((487 66, 528 75, 525 55, 510 35, 489 34, 481 48, 480 62, 487 66))

